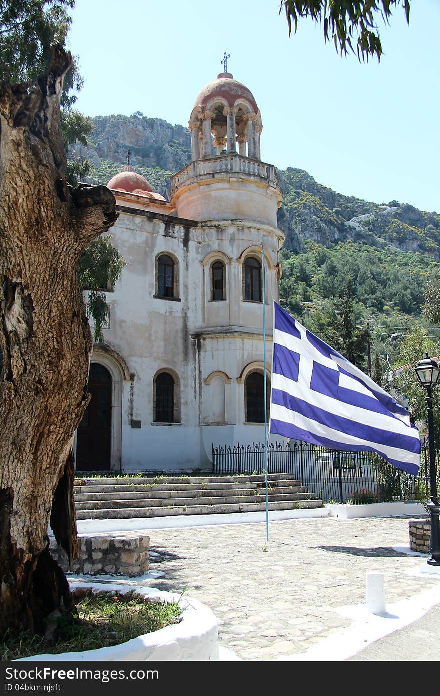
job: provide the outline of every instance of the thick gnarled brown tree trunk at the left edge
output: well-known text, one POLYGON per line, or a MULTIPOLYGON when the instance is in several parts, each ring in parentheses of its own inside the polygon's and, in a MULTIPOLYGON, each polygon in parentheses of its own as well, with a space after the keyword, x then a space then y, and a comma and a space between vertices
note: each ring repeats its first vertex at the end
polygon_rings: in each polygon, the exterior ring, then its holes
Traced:
POLYGON ((47 529, 72 557, 71 452, 92 349, 78 260, 117 214, 106 187, 66 183, 59 97, 71 61, 56 47, 37 84, 0 86, 0 636, 44 633, 72 605, 47 529))

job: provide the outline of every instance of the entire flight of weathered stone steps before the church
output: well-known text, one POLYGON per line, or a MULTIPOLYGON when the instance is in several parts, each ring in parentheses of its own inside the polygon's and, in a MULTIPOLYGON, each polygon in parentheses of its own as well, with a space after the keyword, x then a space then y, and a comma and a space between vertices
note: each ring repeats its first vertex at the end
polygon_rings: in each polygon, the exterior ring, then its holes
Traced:
MULTIPOLYGON (((268 479, 269 510, 323 507, 293 475, 268 479)), ((266 510, 264 475, 77 479, 74 495, 79 520, 266 510)))

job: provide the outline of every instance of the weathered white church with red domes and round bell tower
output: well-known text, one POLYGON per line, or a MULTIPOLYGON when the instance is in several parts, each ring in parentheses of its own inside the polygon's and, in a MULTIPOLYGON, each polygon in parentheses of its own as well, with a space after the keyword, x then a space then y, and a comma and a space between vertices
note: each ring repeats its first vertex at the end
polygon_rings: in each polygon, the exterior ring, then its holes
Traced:
POLYGON ((270 389, 282 190, 261 161, 254 95, 231 73, 204 86, 189 128, 170 202, 130 165, 108 182, 128 265, 107 292, 77 470, 207 471, 213 444, 264 441, 263 295, 270 389))

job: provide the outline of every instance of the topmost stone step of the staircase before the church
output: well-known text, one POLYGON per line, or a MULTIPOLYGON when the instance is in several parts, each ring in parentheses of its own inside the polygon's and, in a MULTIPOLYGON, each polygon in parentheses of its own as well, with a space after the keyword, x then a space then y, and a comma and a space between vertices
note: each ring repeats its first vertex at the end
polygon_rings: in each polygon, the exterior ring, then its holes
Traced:
MULTIPOLYGON (((98 486, 98 487, 104 487, 104 486, 132 486, 132 485, 170 485, 172 484, 173 486, 175 484, 222 484, 222 483, 258 483, 258 482, 264 482, 265 480, 265 475, 264 474, 237 474, 237 475, 231 475, 231 476, 148 476, 148 477, 139 477, 139 476, 134 476, 134 477, 117 477, 117 478, 110 478, 110 477, 102 477, 102 478, 93 478, 93 477, 87 477, 83 479, 75 479, 76 485, 75 489, 80 489, 85 486, 98 486), (86 483, 79 483, 80 481, 86 482, 86 483)), ((268 475, 268 480, 269 481, 296 481, 294 474, 286 474, 286 473, 280 473, 280 474, 269 474, 268 475)))

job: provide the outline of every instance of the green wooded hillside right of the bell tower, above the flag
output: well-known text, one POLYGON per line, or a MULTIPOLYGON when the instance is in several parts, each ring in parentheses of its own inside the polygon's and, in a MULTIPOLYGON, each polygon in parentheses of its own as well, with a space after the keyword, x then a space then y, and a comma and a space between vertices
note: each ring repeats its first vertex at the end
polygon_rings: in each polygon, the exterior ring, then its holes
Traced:
MULTIPOLYGON (((300 169, 279 174, 284 305, 364 369, 369 344, 370 369, 382 381, 423 331, 424 287, 440 271, 440 215, 343 196, 300 169)), ((426 328, 437 343, 437 328, 426 328)))

